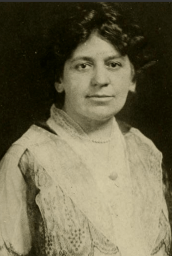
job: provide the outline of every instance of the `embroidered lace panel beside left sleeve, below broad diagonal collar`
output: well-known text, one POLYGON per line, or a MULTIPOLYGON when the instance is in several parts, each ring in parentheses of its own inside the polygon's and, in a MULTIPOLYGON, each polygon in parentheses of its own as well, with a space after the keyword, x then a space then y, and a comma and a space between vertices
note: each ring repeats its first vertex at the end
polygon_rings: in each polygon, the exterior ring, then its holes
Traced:
MULTIPOLYGON (((22 156, 19 168, 25 174, 29 188, 30 183, 34 181, 40 190, 36 196, 36 203, 40 208, 43 222, 38 223, 41 226, 37 227, 38 232, 34 242, 39 241, 39 236, 44 236, 45 254, 41 256, 93 255, 95 247, 105 254, 118 252, 114 244, 95 230, 59 186, 53 188, 53 181, 28 150, 22 156), (44 180, 46 183, 42 182, 44 180)), ((29 212, 32 211, 35 212, 34 208, 30 208, 29 212)), ((38 247, 40 246, 38 243, 38 247)), ((41 248, 38 251, 41 251, 41 248)))

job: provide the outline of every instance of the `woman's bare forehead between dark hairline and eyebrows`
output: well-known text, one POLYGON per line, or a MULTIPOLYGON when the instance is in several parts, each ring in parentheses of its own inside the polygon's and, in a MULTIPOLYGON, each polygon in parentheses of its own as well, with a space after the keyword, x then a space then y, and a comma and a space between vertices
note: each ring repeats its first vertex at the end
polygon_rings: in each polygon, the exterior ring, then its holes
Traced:
POLYGON ((110 41, 100 37, 97 33, 92 33, 88 40, 79 44, 73 51, 71 59, 80 58, 83 56, 103 57, 111 56, 120 57, 119 51, 111 44, 110 41))

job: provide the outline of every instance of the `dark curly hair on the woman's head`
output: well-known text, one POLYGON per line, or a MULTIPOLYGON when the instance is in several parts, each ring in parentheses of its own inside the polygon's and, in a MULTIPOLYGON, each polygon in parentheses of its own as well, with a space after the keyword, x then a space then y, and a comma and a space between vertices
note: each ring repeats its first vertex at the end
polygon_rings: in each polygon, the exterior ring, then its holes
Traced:
POLYGON ((110 41, 121 55, 128 56, 134 65, 134 79, 148 65, 150 57, 144 51, 143 33, 120 3, 60 2, 57 6, 48 34, 48 56, 56 81, 62 76, 65 61, 93 31, 110 41))

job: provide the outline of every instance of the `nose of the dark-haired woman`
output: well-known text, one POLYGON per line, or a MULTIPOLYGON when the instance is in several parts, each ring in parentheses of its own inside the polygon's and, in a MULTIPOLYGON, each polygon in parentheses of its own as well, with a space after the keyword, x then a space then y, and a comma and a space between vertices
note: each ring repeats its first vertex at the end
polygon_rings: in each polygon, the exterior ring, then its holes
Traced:
POLYGON ((110 79, 108 77, 108 71, 105 67, 95 67, 92 75, 92 86, 108 86, 110 79))

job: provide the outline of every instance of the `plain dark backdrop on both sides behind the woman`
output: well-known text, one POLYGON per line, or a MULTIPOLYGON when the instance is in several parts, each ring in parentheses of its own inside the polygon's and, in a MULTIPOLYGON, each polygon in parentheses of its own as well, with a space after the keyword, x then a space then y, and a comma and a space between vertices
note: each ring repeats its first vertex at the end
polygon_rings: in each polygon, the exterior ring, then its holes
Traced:
MULTIPOLYGON (((70 3, 69 3, 70 4, 70 3)), ((138 79, 119 118, 151 138, 172 181, 172 5, 124 2, 142 26, 156 63, 138 79)), ((44 33, 58 2, 0 3, 0 157, 37 120, 48 117, 53 75, 41 65, 44 33)))

